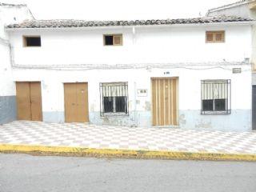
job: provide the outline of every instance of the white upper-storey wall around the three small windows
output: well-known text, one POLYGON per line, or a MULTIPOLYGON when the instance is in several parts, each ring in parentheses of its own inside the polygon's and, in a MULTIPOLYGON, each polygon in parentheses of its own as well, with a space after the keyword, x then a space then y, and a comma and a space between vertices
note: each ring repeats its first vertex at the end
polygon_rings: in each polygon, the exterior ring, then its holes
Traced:
POLYGON ((250 26, 112 27, 94 30, 11 31, 18 65, 243 61, 251 54, 250 26), (206 30, 225 30, 225 43, 206 43, 206 30), (123 34, 123 46, 103 46, 103 34, 123 34), (41 35, 42 47, 23 47, 22 35, 41 35), (134 39, 135 37, 135 39, 134 39))

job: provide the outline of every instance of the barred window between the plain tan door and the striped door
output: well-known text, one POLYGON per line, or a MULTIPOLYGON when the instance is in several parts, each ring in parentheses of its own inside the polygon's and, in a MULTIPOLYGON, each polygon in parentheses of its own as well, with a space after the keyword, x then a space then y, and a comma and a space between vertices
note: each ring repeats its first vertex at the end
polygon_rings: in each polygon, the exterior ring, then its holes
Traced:
POLYGON ((128 82, 100 83, 101 116, 128 115, 128 82))

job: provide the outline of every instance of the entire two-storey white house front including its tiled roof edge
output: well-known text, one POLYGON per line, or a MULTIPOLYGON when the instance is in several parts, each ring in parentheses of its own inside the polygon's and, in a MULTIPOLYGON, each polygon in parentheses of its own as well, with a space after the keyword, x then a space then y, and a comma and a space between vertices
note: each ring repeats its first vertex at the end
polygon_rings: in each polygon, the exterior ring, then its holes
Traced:
POLYGON ((8 25, 18 119, 251 130, 253 24, 221 16, 8 25))

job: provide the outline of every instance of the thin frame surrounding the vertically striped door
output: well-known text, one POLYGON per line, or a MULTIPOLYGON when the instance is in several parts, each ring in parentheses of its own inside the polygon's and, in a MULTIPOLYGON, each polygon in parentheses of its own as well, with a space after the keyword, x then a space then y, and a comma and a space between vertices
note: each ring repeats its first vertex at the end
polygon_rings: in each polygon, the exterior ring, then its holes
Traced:
POLYGON ((165 125, 165 126, 155 126, 155 127, 179 127, 179 78, 178 76, 174 76, 174 77, 151 77, 150 78, 150 102, 151 102, 151 126, 153 125, 153 85, 152 85, 152 80, 157 80, 157 79, 176 79, 176 110, 177 110, 177 114, 176 114, 176 121, 177 121, 177 125, 165 125))

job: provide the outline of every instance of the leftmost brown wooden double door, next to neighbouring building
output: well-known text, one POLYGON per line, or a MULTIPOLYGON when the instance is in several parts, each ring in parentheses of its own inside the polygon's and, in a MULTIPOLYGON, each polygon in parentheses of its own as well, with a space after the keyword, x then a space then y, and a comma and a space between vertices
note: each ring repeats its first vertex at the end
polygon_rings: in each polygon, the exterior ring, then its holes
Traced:
POLYGON ((42 121, 40 82, 16 82, 18 120, 42 121))

